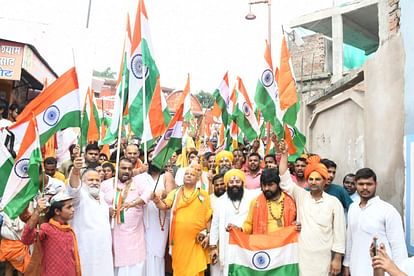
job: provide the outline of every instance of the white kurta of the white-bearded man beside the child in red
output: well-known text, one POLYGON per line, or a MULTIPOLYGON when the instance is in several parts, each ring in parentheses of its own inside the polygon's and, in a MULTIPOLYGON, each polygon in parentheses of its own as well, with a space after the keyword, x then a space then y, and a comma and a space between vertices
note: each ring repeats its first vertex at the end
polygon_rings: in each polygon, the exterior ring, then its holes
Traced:
POLYGON ((109 207, 103 194, 97 201, 82 186, 73 189, 68 185, 67 192, 74 197, 72 227, 78 240, 82 275, 113 276, 109 207))

